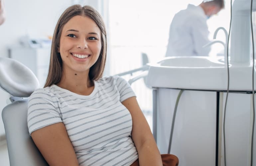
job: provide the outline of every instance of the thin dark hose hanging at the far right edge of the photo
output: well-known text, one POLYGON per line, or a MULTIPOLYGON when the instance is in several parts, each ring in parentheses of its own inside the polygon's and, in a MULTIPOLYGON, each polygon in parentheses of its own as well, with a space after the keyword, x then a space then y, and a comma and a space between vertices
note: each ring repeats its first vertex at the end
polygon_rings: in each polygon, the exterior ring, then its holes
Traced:
POLYGON ((254 137, 254 123, 255 123, 255 106, 254 106, 254 39, 252 26, 252 1, 251 0, 251 33, 252 33, 252 109, 253 109, 253 123, 252 123, 252 143, 251 143, 251 166, 253 161, 253 137, 254 137))

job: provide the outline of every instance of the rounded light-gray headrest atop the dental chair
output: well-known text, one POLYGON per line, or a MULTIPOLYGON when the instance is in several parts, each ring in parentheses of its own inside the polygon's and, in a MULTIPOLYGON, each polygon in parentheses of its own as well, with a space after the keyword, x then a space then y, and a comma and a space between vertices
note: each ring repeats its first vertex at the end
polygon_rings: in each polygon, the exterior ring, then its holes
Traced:
POLYGON ((35 74, 24 64, 0 57, 0 87, 15 97, 29 97, 40 84, 35 74))

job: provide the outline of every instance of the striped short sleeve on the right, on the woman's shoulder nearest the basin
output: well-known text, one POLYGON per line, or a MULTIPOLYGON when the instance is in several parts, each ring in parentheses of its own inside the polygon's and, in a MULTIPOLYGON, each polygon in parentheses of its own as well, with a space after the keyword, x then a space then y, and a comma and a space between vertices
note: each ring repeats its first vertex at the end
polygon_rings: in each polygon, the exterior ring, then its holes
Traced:
POLYGON ((120 102, 123 102, 130 97, 136 96, 130 84, 122 77, 116 77, 116 86, 120 94, 120 102))

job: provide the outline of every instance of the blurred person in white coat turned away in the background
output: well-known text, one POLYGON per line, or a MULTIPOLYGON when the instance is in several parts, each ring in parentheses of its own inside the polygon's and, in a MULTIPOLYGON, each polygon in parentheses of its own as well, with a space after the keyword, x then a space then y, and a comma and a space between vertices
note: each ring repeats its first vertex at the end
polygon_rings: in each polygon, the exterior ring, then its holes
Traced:
POLYGON ((222 8, 223 0, 213 0, 178 12, 170 26, 166 56, 208 56, 210 47, 203 48, 210 42, 206 21, 222 8))

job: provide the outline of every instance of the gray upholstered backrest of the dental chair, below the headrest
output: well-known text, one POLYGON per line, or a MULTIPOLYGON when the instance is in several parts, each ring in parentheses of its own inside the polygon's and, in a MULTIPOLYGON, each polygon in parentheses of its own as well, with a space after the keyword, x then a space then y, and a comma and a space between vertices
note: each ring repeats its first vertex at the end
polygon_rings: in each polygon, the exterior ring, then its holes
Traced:
POLYGON ((47 166, 27 127, 28 99, 15 101, 3 109, 10 166, 47 166))

